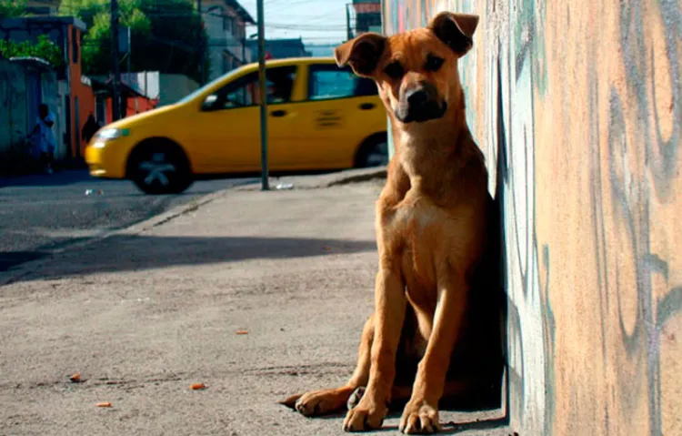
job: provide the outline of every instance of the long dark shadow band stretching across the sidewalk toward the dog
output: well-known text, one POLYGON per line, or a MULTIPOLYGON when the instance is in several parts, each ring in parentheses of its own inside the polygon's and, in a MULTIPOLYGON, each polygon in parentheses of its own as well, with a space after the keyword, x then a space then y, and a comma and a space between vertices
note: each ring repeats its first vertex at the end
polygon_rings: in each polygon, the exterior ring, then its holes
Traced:
MULTIPOLYGON (((375 241, 317 238, 113 236, 89 247, 59 255, 10 281, 55 279, 101 272, 162 269, 247 259, 307 258, 376 250, 375 241)), ((15 257, 39 259, 43 252, 2 253, 0 263, 15 257)))

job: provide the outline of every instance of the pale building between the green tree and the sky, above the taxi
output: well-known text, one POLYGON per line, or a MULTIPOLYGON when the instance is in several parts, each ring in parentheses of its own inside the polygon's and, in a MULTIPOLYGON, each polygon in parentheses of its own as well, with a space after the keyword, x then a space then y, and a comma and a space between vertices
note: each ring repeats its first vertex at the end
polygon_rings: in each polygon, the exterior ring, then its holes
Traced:
POLYGON ((209 80, 251 61, 251 52, 246 45, 246 25, 256 22, 242 5, 235 0, 207 0, 202 5, 202 16, 211 61, 209 80))

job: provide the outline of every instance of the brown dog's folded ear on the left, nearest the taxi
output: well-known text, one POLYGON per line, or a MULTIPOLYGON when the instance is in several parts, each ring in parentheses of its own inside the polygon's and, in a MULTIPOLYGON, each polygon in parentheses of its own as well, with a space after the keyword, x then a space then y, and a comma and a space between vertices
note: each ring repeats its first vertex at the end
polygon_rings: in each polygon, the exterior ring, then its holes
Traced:
POLYGON ((370 76, 384 53, 386 37, 368 32, 334 49, 338 66, 350 65, 358 76, 370 76))

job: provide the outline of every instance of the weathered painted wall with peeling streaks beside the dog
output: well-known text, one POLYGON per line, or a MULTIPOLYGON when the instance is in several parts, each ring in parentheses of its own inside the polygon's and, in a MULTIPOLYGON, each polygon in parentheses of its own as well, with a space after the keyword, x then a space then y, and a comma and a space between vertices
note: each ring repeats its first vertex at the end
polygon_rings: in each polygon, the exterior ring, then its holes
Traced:
POLYGON ((506 228, 508 416, 527 435, 682 434, 675 0, 386 0, 386 33, 481 15, 460 62, 506 228))

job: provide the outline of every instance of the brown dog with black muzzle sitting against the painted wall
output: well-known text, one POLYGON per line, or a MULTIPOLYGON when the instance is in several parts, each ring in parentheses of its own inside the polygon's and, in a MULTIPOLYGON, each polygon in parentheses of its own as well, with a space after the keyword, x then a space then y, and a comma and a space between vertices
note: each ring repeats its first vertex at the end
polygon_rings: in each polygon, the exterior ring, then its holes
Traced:
POLYGON ((376 81, 396 156, 376 204, 376 307, 356 370, 346 386, 282 401, 306 416, 347 402, 346 431, 378 429, 390 401, 408 400, 400 430, 433 432, 441 399, 500 385, 497 223, 457 73, 477 24, 442 13, 426 28, 336 48, 339 66, 376 81))

